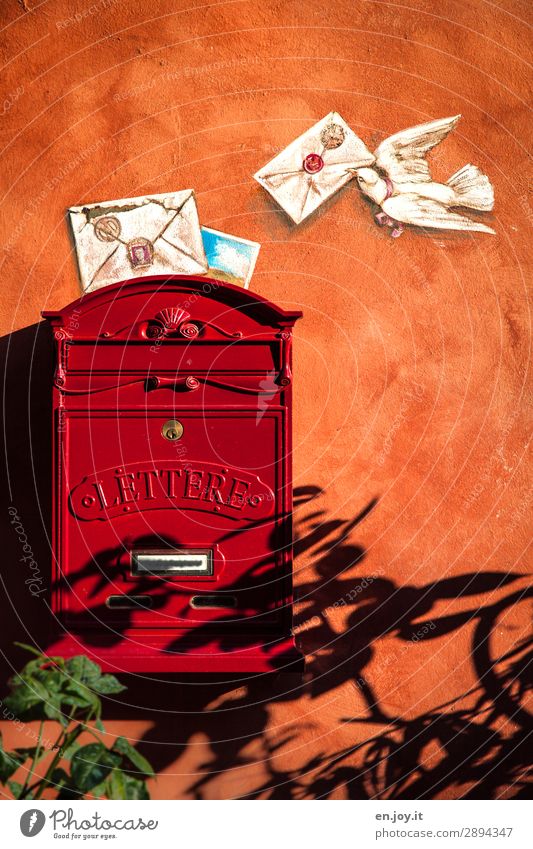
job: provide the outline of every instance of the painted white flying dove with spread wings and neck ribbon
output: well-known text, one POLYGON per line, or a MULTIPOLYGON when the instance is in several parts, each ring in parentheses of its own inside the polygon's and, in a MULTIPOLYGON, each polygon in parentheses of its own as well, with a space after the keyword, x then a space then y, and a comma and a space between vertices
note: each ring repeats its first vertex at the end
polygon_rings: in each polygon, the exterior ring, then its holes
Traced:
POLYGON ((494 191, 488 177, 475 165, 464 165, 447 183, 436 183, 426 162, 427 152, 446 138, 460 117, 441 118, 396 133, 377 148, 374 167, 354 169, 361 191, 381 208, 376 223, 392 227, 393 237, 401 235, 404 224, 494 233, 459 211, 492 210, 494 191))

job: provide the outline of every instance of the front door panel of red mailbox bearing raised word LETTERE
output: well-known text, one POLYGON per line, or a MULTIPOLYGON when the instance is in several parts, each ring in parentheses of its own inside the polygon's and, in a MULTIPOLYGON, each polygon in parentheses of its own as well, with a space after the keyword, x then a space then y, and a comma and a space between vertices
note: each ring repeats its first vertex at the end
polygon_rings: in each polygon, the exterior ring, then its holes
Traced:
POLYGON ((164 408, 67 414, 66 438, 86 450, 69 451, 65 464, 62 560, 72 582, 92 573, 64 598, 67 626, 215 621, 250 629, 279 623, 287 612, 275 544, 283 528, 276 458, 284 411, 260 422, 246 409, 172 415, 183 427, 177 442, 162 435, 164 408), (167 549, 211 552, 211 568, 196 566, 192 575, 183 564, 165 575, 132 569, 137 552, 167 549), (207 591, 229 594, 231 609, 194 606, 207 591), (109 601, 119 593, 146 595, 146 606, 109 601))

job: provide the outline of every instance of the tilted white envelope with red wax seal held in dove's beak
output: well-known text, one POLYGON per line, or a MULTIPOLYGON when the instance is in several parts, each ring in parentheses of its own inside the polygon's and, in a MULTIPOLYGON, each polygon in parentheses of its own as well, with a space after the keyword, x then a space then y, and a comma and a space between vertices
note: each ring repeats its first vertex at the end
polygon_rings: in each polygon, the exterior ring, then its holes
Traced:
POLYGON ((264 165, 254 178, 299 224, 373 157, 338 112, 330 112, 264 165))

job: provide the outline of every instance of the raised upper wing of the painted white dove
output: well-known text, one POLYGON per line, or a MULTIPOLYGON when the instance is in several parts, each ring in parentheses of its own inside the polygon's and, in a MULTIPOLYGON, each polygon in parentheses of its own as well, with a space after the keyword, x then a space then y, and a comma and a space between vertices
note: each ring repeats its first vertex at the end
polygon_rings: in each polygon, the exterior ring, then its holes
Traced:
POLYGON ((418 124, 382 141, 376 150, 376 165, 393 183, 431 183, 426 153, 446 138, 460 115, 418 124))

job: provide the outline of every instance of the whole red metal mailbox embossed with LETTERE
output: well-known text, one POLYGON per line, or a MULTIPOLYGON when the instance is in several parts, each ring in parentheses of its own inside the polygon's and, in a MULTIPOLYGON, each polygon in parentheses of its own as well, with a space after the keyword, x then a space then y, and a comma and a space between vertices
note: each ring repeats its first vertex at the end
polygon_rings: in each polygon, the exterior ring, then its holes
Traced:
POLYGON ((298 668, 291 336, 301 313, 172 276, 43 315, 57 344, 51 653, 124 671, 298 668))

